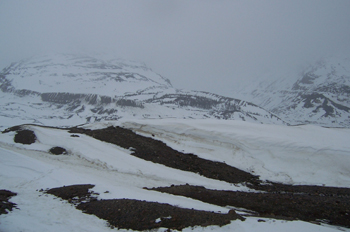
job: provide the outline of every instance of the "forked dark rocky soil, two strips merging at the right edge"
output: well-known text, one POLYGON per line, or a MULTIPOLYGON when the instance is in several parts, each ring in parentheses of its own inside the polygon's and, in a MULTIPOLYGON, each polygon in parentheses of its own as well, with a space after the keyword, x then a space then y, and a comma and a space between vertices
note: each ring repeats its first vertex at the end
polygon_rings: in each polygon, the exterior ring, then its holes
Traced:
POLYGON ((72 128, 71 133, 84 133, 113 143, 132 155, 184 171, 199 173, 229 183, 243 183, 266 193, 207 190, 200 186, 173 186, 153 190, 182 195, 220 206, 233 206, 255 211, 264 217, 323 220, 333 225, 350 227, 350 189, 322 186, 293 186, 263 183, 259 177, 220 162, 173 150, 163 142, 137 135, 131 130, 108 127, 99 130, 72 128))

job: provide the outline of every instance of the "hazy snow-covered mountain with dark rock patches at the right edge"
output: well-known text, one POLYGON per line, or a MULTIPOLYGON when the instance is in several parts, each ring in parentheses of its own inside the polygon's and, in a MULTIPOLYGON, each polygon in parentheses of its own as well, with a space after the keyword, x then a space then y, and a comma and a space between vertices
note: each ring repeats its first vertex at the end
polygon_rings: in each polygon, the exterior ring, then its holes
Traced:
POLYGON ((291 124, 350 127, 349 58, 325 58, 299 74, 262 79, 237 95, 291 124))

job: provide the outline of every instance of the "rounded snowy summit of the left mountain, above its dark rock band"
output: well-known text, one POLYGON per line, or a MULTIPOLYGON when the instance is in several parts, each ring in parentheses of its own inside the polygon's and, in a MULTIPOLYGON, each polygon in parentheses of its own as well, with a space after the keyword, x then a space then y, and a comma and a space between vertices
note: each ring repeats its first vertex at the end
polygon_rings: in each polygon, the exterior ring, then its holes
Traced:
POLYGON ((5 68, 2 75, 7 82, 1 87, 3 91, 124 95, 139 89, 171 87, 168 79, 141 63, 66 54, 23 60, 5 68))

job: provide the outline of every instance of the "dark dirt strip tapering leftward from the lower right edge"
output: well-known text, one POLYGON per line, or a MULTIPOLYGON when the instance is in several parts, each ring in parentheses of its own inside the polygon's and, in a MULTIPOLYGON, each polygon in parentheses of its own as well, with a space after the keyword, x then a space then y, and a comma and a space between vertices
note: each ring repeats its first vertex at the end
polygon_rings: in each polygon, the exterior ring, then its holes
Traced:
POLYGON ((289 187, 288 192, 268 193, 210 190, 191 185, 159 187, 150 190, 186 196, 219 206, 245 208, 263 217, 304 221, 324 220, 332 225, 350 227, 350 189, 318 186, 289 187), (308 188, 311 189, 310 192, 308 188))

